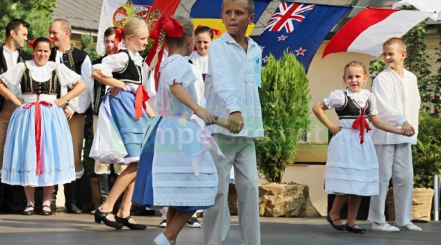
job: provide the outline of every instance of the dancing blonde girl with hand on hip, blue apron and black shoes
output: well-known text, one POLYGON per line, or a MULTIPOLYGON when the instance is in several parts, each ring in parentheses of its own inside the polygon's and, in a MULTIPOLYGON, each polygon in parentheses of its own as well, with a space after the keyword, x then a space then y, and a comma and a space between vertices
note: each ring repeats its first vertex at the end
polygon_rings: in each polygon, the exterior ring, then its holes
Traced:
POLYGON ((148 35, 147 24, 143 20, 129 19, 124 27, 116 31, 118 53, 107 56, 101 64, 93 65, 93 78, 112 88, 104 95, 99 108, 90 157, 104 164, 129 165, 116 180, 106 201, 95 210, 95 222, 103 221, 113 228, 146 228, 131 219, 130 208, 141 142, 149 121, 147 114, 154 115, 145 103, 148 96, 143 86, 143 58, 138 53, 145 49, 148 35), (113 205, 122 192, 120 209, 113 216, 113 205))

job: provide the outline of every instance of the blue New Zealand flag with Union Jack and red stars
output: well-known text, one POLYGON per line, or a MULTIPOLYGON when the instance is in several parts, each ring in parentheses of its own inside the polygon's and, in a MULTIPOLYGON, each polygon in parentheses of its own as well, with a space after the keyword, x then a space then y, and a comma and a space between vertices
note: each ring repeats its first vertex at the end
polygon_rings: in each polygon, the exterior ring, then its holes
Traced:
POLYGON ((257 40, 263 65, 270 53, 279 59, 288 49, 307 71, 321 42, 350 8, 282 1, 257 40))

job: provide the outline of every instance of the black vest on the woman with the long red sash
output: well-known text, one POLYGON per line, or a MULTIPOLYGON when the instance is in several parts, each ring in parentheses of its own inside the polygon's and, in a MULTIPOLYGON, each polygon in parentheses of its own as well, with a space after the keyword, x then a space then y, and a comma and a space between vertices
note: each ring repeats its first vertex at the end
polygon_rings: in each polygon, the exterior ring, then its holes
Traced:
POLYGON ((57 95, 57 91, 60 90, 60 83, 58 81, 57 69, 51 72, 51 76, 48 81, 36 82, 33 81, 29 69, 24 65, 22 74, 22 94, 51 94, 57 95))

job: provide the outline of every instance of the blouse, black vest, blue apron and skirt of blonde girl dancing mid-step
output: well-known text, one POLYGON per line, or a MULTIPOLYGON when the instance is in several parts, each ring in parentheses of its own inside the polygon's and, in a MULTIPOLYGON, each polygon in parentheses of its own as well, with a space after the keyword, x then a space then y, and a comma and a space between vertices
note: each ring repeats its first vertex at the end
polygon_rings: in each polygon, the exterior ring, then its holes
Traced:
POLYGON ((124 44, 120 51, 93 65, 104 76, 125 83, 116 96, 105 94, 99 107, 98 126, 95 131, 90 158, 104 164, 138 162, 141 143, 149 118, 145 112, 147 92, 143 86, 143 58, 131 53, 124 44))

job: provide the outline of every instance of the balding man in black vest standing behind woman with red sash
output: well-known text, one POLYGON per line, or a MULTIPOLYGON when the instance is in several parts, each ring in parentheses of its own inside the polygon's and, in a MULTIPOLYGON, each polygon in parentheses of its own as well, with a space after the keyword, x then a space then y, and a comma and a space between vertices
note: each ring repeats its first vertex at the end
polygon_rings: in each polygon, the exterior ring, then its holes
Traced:
MULTIPOLYGON (((81 75, 83 81, 88 86, 79 96, 69 101, 65 107, 65 115, 69 120, 70 133, 72 133, 72 141, 74 144, 74 162, 77 179, 84 174, 83 162, 81 155, 83 153, 84 142, 84 124, 86 122, 86 115, 84 114, 93 102, 93 78, 92 62, 86 52, 81 49, 72 47, 70 44, 70 35, 72 34, 72 27, 66 19, 55 19, 49 27, 49 37, 54 40, 54 48, 51 50, 51 57, 49 60, 63 63, 72 71, 81 75)), ((67 88, 61 88, 61 96, 67 93, 67 88)), ((64 193, 66 199, 67 212, 74 214, 81 214, 75 203, 75 196, 78 193, 76 181, 64 185, 64 193)), ((51 198, 51 209, 55 208, 56 192, 58 188, 54 188, 54 193, 51 198)))

